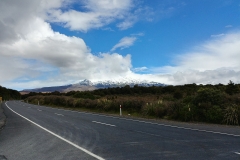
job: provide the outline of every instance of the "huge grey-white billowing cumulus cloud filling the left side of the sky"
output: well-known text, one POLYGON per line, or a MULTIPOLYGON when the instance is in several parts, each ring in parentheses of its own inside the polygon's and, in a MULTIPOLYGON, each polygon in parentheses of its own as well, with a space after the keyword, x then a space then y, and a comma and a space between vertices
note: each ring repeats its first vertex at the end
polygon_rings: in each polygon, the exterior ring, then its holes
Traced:
POLYGON ((23 0, 19 3, 0 2, 0 28, 4 33, 0 41, 0 67, 4 68, 0 74, 5 75, 0 78, 2 85, 18 84, 18 88, 60 85, 131 72, 130 55, 93 55, 83 39, 52 30, 42 18, 43 12, 61 6, 63 1, 31 1, 29 4, 23 0))

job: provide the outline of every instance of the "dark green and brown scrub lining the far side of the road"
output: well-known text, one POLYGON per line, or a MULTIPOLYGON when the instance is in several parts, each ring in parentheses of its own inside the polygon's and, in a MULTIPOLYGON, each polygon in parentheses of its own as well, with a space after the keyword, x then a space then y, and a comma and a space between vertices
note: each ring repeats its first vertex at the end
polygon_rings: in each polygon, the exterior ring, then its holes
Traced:
POLYGON ((82 109, 102 113, 119 113, 144 118, 160 118, 185 122, 239 125, 240 84, 163 87, 107 88, 68 93, 29 93, 25 102, 82 109))

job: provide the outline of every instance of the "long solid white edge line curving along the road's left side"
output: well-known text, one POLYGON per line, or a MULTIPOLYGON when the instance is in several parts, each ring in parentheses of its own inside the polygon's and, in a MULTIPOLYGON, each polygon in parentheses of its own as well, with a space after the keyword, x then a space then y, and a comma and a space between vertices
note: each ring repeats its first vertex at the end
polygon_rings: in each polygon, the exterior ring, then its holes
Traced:
POLYGON ((102 158, 102 157, 100 157, 100 156, 98 156, 98 155, 96 155, 96 154, 94 154, 94 153, 92 153, 92 152, 90 152, 90 151, 88 151, 88 150, 86 150, 86 149, 84 149, 84 148, 82 148, 82 147, 76 145, 75 143, 73 143, 73 142, 71 142, 71 141, 69 141, 69 140, 67 140, 67 139, 65 139, 65 138, 63 138, 63 137, 61 137, 61 136, 55 134, 54 132, 52 132, 52 131, 50 131, 50 130, 48 130, 48 129, 42 127, 42 126, 40 126, 39 124, 37 124, 37 123, 31 121, 30 119, 28 119, 28 118, 22 116, 21 114, 15 112, 14 110, 12 110, 12 109, 7 105, 7 102, 6 102, 5 104, 6 104, 6 106, 8 107, 8 109, 10 109, 13 113, 15 113, 15 114, 19 115, 20 117, 26 119, 27 121, 31 122, 32 124, 38 126, 38 127, 41 128, 41 129, 45 130, 46 132, 48 132, 48 133, 54 135, 55 137, 57 137, 57 138, 59 138, 59 139, 65 141, 65 142, 67 142, 68 144, 70 144, 70 145, 76 147, 77 149, 80 149, 81 151, 83 151, 83 152, 89 154, 90 156, 95 157, 95 158, 98 159, 98 160, 104 160, 104 158, 102 158))

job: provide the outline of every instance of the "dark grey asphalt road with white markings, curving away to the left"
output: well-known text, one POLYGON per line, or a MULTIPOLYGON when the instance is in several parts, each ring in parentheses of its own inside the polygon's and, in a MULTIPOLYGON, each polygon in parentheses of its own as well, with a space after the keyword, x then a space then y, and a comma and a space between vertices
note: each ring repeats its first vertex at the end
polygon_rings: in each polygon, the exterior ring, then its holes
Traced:
POLYGON ((10 101, 0 159, 240 159, 240 128, 146 121, 10 101))

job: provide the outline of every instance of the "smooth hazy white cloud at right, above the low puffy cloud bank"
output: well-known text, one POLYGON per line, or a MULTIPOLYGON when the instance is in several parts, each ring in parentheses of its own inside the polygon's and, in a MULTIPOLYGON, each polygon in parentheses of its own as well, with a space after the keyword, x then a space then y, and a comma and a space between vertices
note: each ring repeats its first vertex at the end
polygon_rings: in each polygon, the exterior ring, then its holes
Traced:
POLYGON ((230 33, 210 40, 179 57, 181 69, 215 70, 240 69, 240 32, 230 33))

